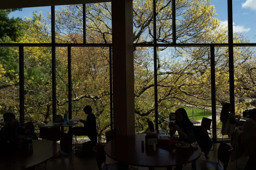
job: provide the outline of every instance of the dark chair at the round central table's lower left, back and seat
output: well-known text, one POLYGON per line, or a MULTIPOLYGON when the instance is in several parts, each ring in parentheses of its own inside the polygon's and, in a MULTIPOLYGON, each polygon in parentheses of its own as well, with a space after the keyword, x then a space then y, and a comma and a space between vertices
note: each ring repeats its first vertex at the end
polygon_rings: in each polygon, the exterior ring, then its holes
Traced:
POLYGON ((94 146, 93 151, 94 151, 94 157, 96 159, 97 166, 98 166, 99 170, 118 170, 118 169, 126 170, 126 169, 128 169, 128 168, 123 167, 123 164, 121 164, 119 162, 106 164, 106 153, 105 153, 104 147, 100 143, 98 143, 96 146, 94 146))

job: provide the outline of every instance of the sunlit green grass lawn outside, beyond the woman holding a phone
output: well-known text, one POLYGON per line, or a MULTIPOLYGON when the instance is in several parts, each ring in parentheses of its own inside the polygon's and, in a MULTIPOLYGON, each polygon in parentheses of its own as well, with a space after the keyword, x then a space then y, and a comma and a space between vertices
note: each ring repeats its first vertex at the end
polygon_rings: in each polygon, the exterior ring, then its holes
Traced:
MULTIPOLYGON (((186 106, 181 106, 182 108, 184 108, 188 114, 188 118, 189 119, 192 119, 193 116, 192 116, 192 107, 186 107, 186 106)), ((205 110, 206 112, 206 110, 205 110)), ((204 116, 204 110, 203 109, 199 109, 199 108, 196 108, 194 107, 194 120, 195 121, 198 121, 198 120, 201 120, 203 119, 203 117, 205 118, 208 118, 212 116, 212 112, 208 110, 207 113, 205 113, 205 116, 204 116)))

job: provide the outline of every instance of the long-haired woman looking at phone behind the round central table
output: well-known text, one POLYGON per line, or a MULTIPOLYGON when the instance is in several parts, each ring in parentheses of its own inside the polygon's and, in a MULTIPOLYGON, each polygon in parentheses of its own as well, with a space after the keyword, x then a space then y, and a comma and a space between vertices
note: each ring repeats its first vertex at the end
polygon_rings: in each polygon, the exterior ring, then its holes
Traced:
POLYGON ((170 124, 170 136, 174 135, 176 131, 179 133, 179 140, 187 143, 196 142, 194 137, 193 128, 194 125, 190 122, 187 112, 183 108, 179 108, 175 111, 176 121, 174 124, 170 124))

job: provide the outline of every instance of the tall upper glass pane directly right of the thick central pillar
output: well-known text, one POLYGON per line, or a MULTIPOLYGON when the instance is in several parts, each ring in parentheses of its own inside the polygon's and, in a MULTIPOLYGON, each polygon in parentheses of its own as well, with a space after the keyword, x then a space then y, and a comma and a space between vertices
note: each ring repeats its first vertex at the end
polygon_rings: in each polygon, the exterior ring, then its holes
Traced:
POLYGON ((153 43, 153 3, 133 0, 133 42, 153 43))

